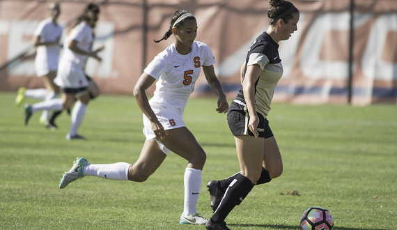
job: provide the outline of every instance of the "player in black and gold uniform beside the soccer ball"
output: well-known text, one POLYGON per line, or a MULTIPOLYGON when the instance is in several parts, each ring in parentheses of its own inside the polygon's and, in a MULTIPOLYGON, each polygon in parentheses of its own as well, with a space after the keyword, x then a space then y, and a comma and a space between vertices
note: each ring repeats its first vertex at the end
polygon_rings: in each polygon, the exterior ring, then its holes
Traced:
POLYGON ((254 185, 268 183, 283 171, 276 139, 267 114, 274 88, 283 74, 279 41, 288 40, 297 30, 299 10, 284 0, 270 0, 270 26, 249 47, 242 66, 242 88, 228 109, 228 124, 237 148, 240 173, 222 181, 210 181, 208 191, 214 215, 208 230, 227 230, 224 220, 254 185))

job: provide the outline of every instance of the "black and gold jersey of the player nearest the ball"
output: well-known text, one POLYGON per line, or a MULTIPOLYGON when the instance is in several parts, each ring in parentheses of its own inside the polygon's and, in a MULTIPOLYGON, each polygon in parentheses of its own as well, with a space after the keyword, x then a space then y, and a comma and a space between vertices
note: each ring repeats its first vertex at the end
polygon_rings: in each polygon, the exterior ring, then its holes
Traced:
MULTIPOLYGON (((247 66, 258 64, 262 69, 260 77, 255 82, 255 105, 256 112, 263 114, 263 116, 267 116, 270 111, 274 88, 276 88, 277 82, 283 75, 283 66, 281 65, 278 49, 279 44, 269 34, 263 32, 251 43, 245 61, 244 75, 247 71, 247 66)), ((242 88, 235 99, 245 104, 242 88)))

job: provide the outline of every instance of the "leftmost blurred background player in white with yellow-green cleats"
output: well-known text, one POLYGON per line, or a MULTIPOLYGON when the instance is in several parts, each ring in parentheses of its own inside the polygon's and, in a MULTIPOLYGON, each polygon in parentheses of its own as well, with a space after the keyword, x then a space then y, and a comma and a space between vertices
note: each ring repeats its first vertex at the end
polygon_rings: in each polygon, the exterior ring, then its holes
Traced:
MULTIPOLYGON (((26 89, 21 87, 18 90, 15 103, 19 107, 24 98, 37 98, 51 100, 57 98, 59 86, 54 84, 56 70, 58 70, 59 52, 61 51, 62 27, 57 23, 61 13, 59 3, 48 3, 47 19, 42 20, 33 35, 33 45, 36 49, 35 70, 36 75, 44 80, 45 89, 26 89)), ((47 110, 42 112, 40 121, 44 123, 49 118, 47 110)))

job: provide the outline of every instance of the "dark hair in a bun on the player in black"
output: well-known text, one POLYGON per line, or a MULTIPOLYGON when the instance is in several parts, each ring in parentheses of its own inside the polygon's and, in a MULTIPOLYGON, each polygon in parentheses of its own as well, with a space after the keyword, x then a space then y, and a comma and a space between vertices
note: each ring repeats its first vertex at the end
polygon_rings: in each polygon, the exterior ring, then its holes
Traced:
POLYGON ((282 19, 288 23, 289 20, 293 19, 295 13, 299 13, 299 10, 285 0, 269 0, 270 9, 267 10, 267 17, 270 18, 270 25, 276 26, 277 22, 282 19))

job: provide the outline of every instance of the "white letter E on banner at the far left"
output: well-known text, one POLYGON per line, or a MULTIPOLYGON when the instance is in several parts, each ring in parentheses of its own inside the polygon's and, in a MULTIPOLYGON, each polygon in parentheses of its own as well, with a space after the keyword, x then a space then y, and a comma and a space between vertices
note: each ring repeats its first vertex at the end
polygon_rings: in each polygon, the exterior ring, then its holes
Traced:
MULTIPOLYGON (((25 52, 32 45, 31 40, 24 40, 24 36, 33 36, 38 21, 13 21, 8 35, 7 59, 13 59, 25 52)), ((34 61, 17 60, 8 66, 10 75, 36 76, 34 61)))

